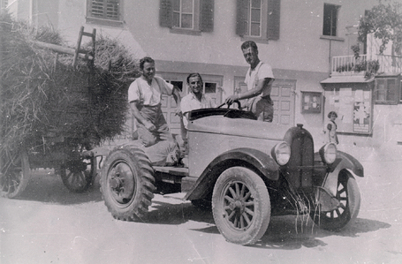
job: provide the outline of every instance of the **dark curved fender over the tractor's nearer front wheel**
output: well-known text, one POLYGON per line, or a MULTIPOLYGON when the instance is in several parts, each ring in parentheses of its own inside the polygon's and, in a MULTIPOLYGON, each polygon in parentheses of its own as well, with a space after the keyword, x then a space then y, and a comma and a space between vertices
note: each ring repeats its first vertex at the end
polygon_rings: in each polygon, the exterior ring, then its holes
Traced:
POLYGON ((269 155, 246 147, 231 149, 209 163, 190 192, 187 192, 185 200, 201 199, 211 193, 217 177, 224 170, 234 166, 254 168, 269 180, 275 181, 279 178, 279 165, 269 155))

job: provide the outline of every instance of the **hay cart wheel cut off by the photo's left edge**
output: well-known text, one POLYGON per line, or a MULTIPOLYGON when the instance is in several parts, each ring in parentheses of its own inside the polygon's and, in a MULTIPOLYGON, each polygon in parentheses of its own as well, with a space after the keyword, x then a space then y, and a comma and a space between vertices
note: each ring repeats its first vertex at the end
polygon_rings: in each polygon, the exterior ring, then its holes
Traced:
POLYGON ((0 196, 15 198, 24 192, 31 177, 27 152, 21 151, 1 165, 0 196))

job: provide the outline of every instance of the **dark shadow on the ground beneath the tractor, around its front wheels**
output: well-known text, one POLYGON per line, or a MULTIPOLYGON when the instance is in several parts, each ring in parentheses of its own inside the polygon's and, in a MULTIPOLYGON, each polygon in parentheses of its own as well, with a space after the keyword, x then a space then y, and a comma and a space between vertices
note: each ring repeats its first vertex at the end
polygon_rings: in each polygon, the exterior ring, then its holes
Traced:
MULTIPOLYGON (((146 219, 147 224, 182 224, 188 221, 209 223, 210 226, 201 229, 192 229, 209 234, 219 234, 214 217, 210 210, 203 210, 189 202, 169 203, 154 200, 152 209, 146 219)), ((321 238, 340 236, 355 238, 361 233, 391 228, 391 224, 380 221, 357 218, 356 221, 344 230, 335 232, 322 230, 307 215, 271 217, 268 230, 261 240, 251 247, 294 250, 302 246, 313 248, 327 245, 321 238)))

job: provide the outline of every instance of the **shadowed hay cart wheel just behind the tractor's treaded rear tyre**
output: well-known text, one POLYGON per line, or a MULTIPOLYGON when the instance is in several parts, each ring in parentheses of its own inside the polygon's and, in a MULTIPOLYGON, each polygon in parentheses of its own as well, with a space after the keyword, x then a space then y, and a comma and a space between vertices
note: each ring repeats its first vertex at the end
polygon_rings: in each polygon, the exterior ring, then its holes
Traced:
POLYGON ((94 160, 69 161, 60 166, 60 177, 71 192, 87 191, 93 182, 94 160))

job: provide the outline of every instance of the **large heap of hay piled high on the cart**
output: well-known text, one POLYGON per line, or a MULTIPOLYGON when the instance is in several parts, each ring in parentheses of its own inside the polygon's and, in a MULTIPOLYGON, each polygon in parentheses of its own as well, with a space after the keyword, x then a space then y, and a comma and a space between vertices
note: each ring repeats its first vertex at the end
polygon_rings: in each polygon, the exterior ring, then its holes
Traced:
MULTIPOLYGON (((61 45, 49 28, 30 28, 8 14, 0 20, 0 154, 43 152, 46 137, 69 146, 95 147, 125 129, 126 91, 138 76, 134 58, 116 40, 97 37, 95 65, 72 68, 71 55, 34 45, 61 45)), ((49 151, 48 151, 49 152, 49 151)), ((12 159, 12 158, 11 158, 12 159)))

